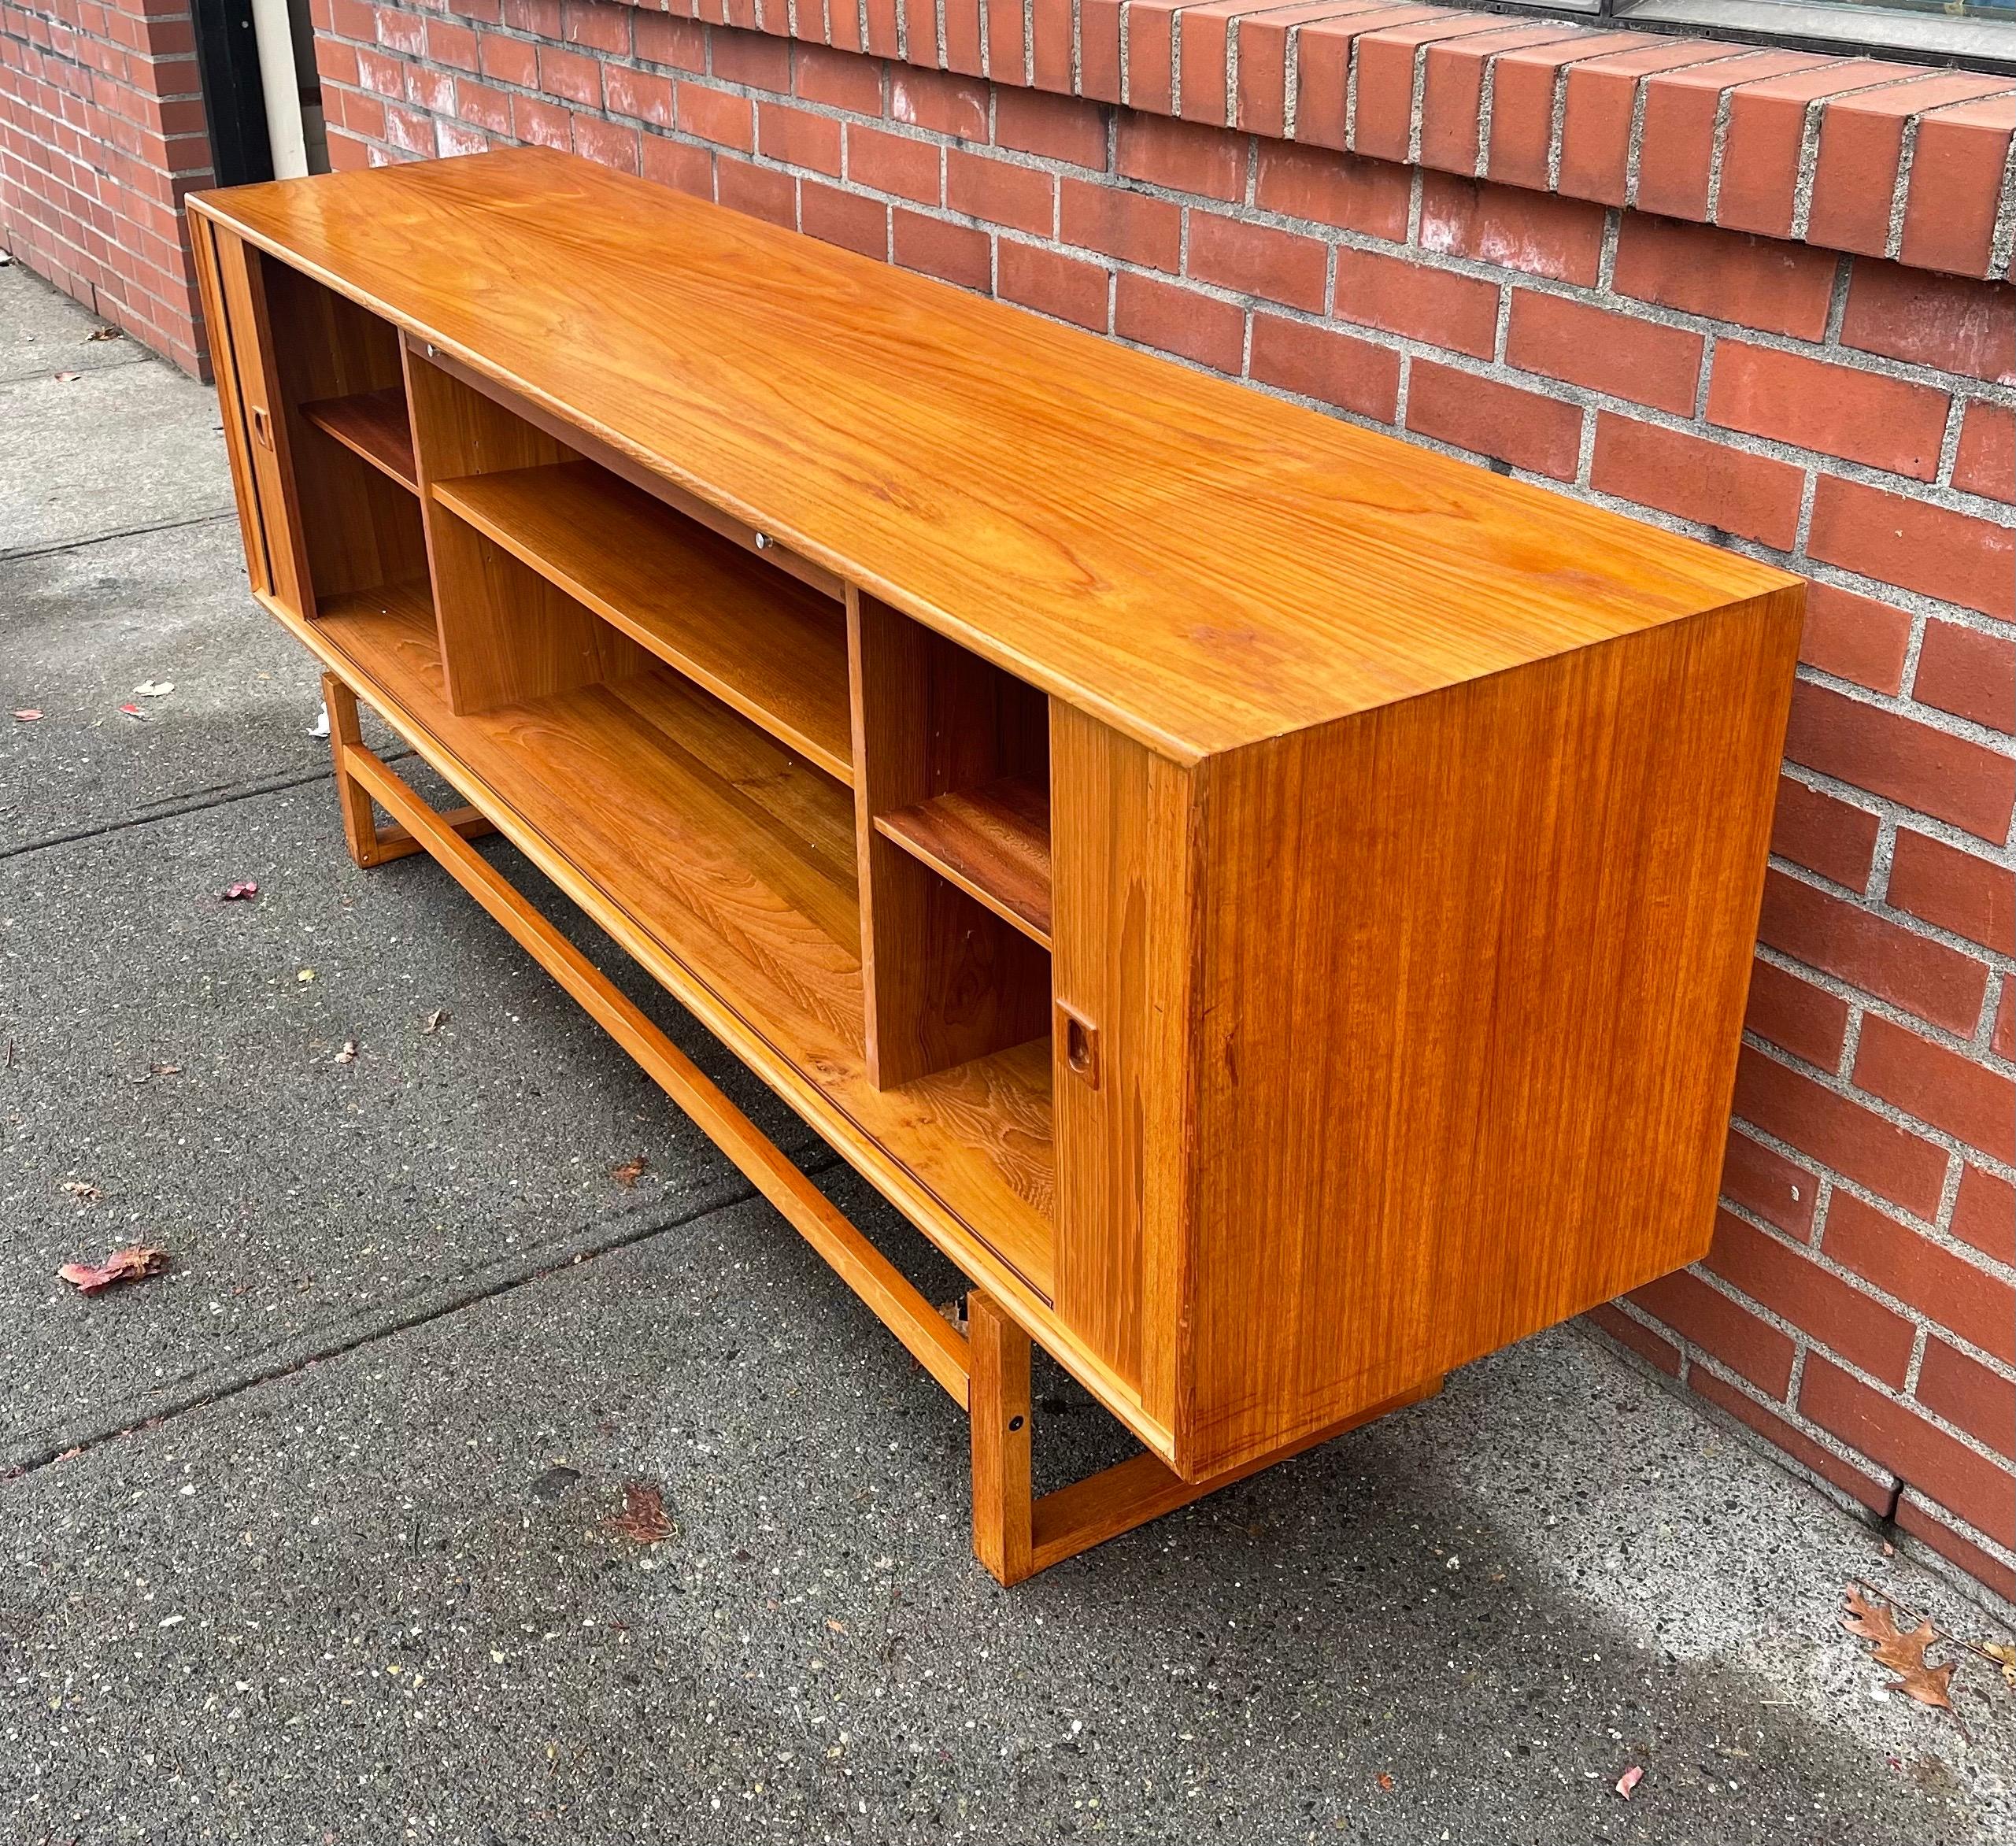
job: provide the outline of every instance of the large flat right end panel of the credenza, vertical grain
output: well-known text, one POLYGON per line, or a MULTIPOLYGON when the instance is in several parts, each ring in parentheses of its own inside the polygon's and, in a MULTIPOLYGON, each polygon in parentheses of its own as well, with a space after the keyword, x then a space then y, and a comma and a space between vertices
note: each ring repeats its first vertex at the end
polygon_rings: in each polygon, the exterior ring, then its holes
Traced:
POLYGON ((1704 1254, 1800 595, 1212 766, 1185 1471, 1704 1254))

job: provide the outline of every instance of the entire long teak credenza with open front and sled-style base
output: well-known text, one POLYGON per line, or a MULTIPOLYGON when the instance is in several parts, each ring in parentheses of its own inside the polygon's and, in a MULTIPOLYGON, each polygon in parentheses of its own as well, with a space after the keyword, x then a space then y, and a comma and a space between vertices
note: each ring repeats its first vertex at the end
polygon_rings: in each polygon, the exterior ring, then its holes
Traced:
POLYGON ((1796 578, 556 153, 192 212, 351 852, 431 852, 970 1411, 998 1578, 1708 1247, 1796 578), (1032 1501, 1030 1340, 1147 1453, 1032 1501))

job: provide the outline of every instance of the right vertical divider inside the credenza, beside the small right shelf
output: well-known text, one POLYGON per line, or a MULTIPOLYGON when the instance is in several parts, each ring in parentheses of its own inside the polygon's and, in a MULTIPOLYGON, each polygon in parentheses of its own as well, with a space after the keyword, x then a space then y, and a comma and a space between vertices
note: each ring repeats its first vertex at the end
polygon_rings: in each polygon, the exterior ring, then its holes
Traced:
POLYGON ((1048 1030, 1050 957, 875 830, 952 788, 1030 774, 1040 695, 873 597, 847 592, 869 1078, 895 1088, 1048 1030))

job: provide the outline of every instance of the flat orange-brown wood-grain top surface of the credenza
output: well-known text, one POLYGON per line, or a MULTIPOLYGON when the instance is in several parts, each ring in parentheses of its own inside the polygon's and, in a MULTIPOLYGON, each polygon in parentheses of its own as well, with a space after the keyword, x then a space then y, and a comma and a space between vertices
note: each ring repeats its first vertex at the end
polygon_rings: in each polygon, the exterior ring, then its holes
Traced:
POLYGON ((573 155, 194 204, 1179 762, 1796 582, 573 155))

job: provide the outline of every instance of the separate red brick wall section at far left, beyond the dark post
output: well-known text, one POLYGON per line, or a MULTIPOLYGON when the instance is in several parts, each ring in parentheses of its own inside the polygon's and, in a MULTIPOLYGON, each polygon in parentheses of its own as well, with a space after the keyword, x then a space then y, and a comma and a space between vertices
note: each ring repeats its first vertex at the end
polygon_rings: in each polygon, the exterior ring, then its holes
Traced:
POLYGON ((187 0, 0 0, 0 244, 185 371, 210 183, 187 0))

